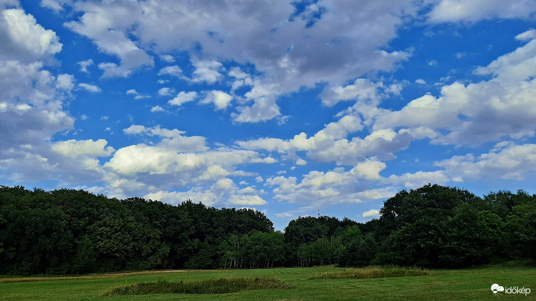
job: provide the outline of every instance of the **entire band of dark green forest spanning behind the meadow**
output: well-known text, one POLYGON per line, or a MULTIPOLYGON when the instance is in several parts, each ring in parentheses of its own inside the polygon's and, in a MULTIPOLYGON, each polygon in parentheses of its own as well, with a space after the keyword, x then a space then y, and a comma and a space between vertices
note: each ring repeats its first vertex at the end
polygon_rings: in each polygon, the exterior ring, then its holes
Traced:
POLYGON ((251 209, 1 186, 0 274, 536 260, 536 195, 522 190, 478 197, 428 184, 380 213, 367 223, 300 217, 281 233, 251 209))

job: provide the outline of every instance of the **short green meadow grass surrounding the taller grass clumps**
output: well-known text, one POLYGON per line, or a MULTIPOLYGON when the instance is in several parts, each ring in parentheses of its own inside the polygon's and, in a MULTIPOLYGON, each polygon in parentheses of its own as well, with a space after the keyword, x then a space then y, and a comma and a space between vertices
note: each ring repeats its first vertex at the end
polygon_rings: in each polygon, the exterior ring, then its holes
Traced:
POLYGON ((471 268, 431 270, 427 275, 374 279, 311 279, 339 270, 334 267, 278 268, 211 271, 151 271, 126 274, 65 277, 0 277, 1 300, 502 300, 536 299, 535 268, 471 268), (199 281, 222 277, 271 276, 295 285, 291 289, 250 290, 218 295, 128 295, 102 297, 106 291, 139 282, 199 281), (490 287, 497 283, 530 288, 527 296, 495 297, 490 287))

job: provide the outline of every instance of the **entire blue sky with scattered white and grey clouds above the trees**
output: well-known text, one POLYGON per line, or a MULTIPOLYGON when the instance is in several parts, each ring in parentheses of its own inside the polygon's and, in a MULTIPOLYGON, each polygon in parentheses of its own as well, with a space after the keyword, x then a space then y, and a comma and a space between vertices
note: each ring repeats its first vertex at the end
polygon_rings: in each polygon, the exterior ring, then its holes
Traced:
POLYGON ((533 188, 528 0, 0 0, 0 183, 377 218, 533 188))

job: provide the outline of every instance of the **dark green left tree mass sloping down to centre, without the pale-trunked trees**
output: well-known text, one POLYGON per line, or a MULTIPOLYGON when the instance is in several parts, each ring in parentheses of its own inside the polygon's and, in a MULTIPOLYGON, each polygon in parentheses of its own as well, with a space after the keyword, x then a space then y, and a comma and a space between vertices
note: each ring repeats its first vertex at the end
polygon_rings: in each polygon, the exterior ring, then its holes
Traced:
POLYGON ((2 186, 0 274, 214 268, 220 243, 252 230, 274 234, 272 222, 251 209, 2 186))

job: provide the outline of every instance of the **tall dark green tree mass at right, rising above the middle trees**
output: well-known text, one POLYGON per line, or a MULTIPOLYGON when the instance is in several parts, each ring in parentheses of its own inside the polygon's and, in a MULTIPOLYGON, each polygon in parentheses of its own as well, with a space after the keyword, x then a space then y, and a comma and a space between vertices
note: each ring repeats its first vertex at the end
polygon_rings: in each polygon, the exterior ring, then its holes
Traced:
POLYGON ((531 258, 535 200, 522 190, 483 199, 467 190, 430 184, 401 191, 380 210, 376 233, 383 242, 374 262, 467 267, 531 258))

